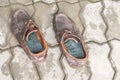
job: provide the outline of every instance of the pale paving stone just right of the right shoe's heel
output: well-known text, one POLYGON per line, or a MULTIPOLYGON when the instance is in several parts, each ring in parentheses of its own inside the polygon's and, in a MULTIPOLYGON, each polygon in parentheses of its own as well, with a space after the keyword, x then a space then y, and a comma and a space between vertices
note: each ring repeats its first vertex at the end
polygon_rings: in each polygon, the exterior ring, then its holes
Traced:
POLYGON ((89 43, 87 46, 89 48, 89 61, 92 71, 91 80, 112 80, 114 71, 107 58, 110 50, 108 44, 97 45, 89 43))

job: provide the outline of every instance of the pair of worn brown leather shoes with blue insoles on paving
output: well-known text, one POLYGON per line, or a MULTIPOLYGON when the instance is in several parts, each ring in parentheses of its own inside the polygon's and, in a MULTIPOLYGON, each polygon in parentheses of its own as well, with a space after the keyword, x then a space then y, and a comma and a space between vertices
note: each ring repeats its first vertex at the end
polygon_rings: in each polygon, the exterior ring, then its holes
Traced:
MULTIPOLYGON (((11 31, 27 53, 35 61, 43 61, 47 56, 47 43, 35 22, 23 9, 12 15, 11 31)), ((71 66, 82 66, 88 53, 74 22, 64 14, 56 14, 53 27, 58 43, 71 66)))

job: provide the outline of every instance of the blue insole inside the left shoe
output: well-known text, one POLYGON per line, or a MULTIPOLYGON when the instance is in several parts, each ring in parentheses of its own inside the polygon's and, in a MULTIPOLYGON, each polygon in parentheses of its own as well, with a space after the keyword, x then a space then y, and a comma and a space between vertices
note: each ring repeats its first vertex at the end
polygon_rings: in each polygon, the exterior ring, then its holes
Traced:
POLYGON ((26 42, 27 42, 27 45, 28 45, 30 51, 34 54, 41 52, 43 50, 43 46, 40 43, 39 39, 37 38, 36 32, 31 33, 28 36, 28 41, 26 41, 26 42))

